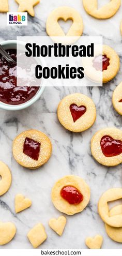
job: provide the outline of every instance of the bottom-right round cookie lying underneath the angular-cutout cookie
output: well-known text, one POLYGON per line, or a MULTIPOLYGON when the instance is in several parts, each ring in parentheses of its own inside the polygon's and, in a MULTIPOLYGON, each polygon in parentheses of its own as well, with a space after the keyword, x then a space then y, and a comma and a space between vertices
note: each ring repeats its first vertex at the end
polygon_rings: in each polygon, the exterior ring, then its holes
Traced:
MULTIPOLYGON (((110 212, 109 212, 109 216, 116 216, 122 214, 122 205, 117 205, 115 207, 113 207, 110 212)), ((118 242, 118 243, 122 243, 122 228, 114 228, 109 226, 108 224, 105 224, 105 230, 106 233, 108 234, 108 236, 118 242)))

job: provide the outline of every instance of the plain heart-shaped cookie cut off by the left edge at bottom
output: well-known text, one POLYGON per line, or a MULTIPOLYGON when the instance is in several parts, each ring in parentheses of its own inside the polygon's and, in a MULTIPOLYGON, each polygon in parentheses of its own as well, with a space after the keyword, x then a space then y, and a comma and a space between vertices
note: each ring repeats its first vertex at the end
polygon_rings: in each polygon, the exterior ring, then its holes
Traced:
POLYGON ((0 222, 0 245, 8 244, 16 234, 16 226, 11 222, 0 222))

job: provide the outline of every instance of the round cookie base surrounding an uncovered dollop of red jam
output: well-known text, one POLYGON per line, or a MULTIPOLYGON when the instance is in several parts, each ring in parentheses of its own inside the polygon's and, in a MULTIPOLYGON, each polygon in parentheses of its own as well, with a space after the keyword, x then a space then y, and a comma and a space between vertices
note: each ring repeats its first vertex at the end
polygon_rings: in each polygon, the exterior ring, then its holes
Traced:
POLYGON ((75 175, 67 175, 63 178, 60 178, 55 183, 52 189, 51 197, 54 206, 60 212, 67 215, 73 215, 82 212, 82 210, 87 206, 90 200, 90 188, 81 177, 75 175), (82 193, 83 200, 78 204, 71 204, 65 200, 60 194, 60 191, 62 191, 62 189, 66 186, 77 188, 78 191, 82 193))

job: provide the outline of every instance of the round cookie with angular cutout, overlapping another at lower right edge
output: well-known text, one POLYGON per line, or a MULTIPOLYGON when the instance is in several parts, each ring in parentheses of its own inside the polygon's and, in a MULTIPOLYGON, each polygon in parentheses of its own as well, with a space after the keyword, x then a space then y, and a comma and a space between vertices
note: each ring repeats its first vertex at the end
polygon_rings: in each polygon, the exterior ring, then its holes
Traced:
POLYGON ((101 219, 111 227, 122 227, 122 213, 117 215, 109 214, 108 202, 122 198, 122 188, 111 188, 105 191, 98 203, 98 210, 101 219))

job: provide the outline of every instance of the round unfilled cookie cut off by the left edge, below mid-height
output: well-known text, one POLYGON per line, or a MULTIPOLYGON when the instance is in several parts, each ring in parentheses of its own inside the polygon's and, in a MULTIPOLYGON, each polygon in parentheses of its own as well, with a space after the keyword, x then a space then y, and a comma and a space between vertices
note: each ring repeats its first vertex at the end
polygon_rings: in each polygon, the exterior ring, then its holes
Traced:
POLYGON ((11 185, 11 172, 7 165, 0 161, 0 195, 5 194, 11 185))

